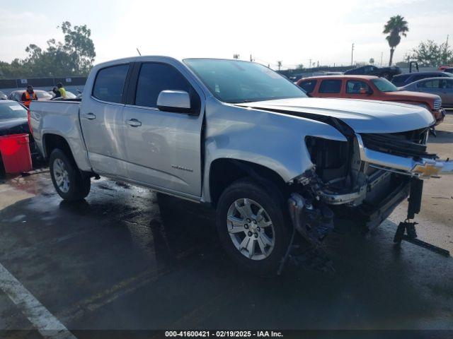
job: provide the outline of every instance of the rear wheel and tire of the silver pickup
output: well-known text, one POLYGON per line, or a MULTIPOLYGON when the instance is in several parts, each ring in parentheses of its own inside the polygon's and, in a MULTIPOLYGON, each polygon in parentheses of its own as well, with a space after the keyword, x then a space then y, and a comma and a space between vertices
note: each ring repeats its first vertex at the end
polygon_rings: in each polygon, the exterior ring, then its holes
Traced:
POLYGON ((56 148, 52 151, 49 167, 55 190, 65 201, 81 201, 88 196, 90 177, 81 174, 74 160, 63 150, 56 148))

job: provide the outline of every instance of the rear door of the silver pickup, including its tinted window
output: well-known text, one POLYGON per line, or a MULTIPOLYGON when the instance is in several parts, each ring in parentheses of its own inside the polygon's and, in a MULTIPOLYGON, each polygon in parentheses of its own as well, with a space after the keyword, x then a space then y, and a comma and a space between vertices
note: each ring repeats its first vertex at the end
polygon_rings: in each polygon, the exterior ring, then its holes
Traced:
POLYGON ((80 121, 91 166, 100 174, 126 176, 123 94, 130 64, 108 66, 96 74, 90 97, 81 103, 80 121))

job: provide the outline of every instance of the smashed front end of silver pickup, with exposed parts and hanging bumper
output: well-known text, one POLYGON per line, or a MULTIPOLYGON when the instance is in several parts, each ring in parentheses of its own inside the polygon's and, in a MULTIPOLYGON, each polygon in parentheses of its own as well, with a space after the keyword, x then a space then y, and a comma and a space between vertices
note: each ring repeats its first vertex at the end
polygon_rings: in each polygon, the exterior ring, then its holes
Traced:
MULTIPOLYGON (((367 230, 380 225, 411 193, 411 182, 452 172, 452 161, 426 151, 428 131, 372 134, 349 129, 348 141, 307 136, 313 166, 292 181, 289 213, 294 228, 317 246, 333 229, 337 212, 360 220, 367 230)), ((421 190, 413 200, 420 203, 421 190)))

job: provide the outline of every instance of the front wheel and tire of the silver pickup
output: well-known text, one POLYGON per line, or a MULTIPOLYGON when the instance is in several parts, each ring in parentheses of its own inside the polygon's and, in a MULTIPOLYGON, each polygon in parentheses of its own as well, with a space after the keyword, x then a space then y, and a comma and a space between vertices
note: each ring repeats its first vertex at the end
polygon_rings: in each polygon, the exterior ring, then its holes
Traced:
POLYGON ((251 179, 240 179, 228 186, 220 196, 217 204, 217 232, 226 253, 241 268, 253 274, 269 275, 271 273, 277 273, 278 266, 282 257, 285 255, 289 243, 287 217, 285 213, 285 201, 280 191, 276 191, 276 189, 265 189, 251 179), (248 225, 245 215, 239 213, 239 210, 234 205, 235 202, 239 206, 243 203, 241 208, 245 207, 245 199, 248 199, 248 203, 252 206, 251 210, 255 213, 258 223, 253 224, 253 218, 251 218, 251 223, 248 225), (258 215, 256 213, 258 206, 255 204, 262 207, 264 213, 258 215), (236 213, 236 216, 231 215, 231 212, 236 213), (236 218, 231 219, 234 220, 236 225, 233 227, 232 222, 227 221, 227 218, 236 218), (242 220, 241 222, 247 223, 247 225, 241 224, 239 222, 240 219, 242 220), (263 222, 267 224, 271 222, 271 226, 264 226, 265 224, 263 222), (257 225, 258 230, 256 228, 257 225), (260 225, 263 225, 263 227, 259 227, 260 225), (241 227, 244 227, 243 232, 241 232, 241 227), (272 228, 270 229, 269 227, 272 228), (231 228, 234 230, 231 230, 230 233, 229 229, 231 228), (250 236, 251 233, 252 235, 250 236), (267 240, 273 242, 272 246, 265 244, 263 240, 266 238, 263 237, 263 233, 267 236, 267 240), (234 234, 234 236, 231 237, 230 234, 234 234), (250 241, 255 242, 255 244, 249 247, 248 242, 250 241), (248 244, 247 248, 243 247, 245 244, 248 244), (263 244, 265 244, 264 251, 261 247, 263 244), (252 258, 250 258, 251 251, 248 251, 251 248, 256 253, 252 258))

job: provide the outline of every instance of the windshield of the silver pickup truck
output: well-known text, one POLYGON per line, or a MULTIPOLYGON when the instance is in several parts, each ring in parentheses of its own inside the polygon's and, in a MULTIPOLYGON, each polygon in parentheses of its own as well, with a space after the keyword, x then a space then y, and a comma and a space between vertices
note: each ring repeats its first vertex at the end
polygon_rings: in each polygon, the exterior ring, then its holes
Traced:
POLYGON ((306 97, 297 85, 260 64, 221 59, 185 59, 184 62, 223 102, 306 97))

